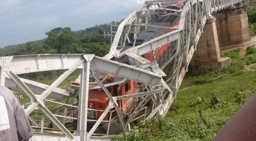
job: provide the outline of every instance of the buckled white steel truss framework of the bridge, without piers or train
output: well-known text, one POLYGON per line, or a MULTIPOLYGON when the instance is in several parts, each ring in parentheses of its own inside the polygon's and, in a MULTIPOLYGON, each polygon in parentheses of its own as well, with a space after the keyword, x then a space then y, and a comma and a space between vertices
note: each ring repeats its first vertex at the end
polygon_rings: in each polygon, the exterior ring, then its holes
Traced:
MULTIPOLYGON (((31 99, 31 103, 24 105, 25 112, 37 132, 32 141, 88 141, 110 140, 110 128, 120 127, 122 132, 131 130, 133 121, 143 121, 158 114, 165 116, 171 103, 177 97, 181 81, 188 71, 193 53, 197 50, 197 42, 203 33, 206 20, 213 13, 230 8, 243 0, 154 0, 146 2, 145 6, 131 13, 119 25, 115 33, 109 53, 104 57, 88 54, 43 54, 0 57, 0 85, 11 89, 21 89, 31 99), (180 9, 174 7, 181 7, 180 9), (152 24, 155 16, 178 16, 179 23, 173 27, 152 24), (139 34, 151 29, 167 29, 170 32, 136 44, 139 34), (130 39, 133 35, 133 39, 130 39), (133 41, 132 41, 133 40, 133 41), (127 44, 132 43, 127 48, 127 44), (168 45, 168 51, 160 55, 158 61, 149 61, 142 56, 154 52, 163 45, 168 45), (173 50, 172 52, 169 52, 173 50), (122 63, 122 58, 128 58, 129 64, 122 63), (57 88, 72 72, 81 70, 78 86, 74 88, 57 88), (20 78, 18 75, 65 70, 50 86, 35 81, 20 78), (112 83, 102 83, 97 72, 102 72, 122 78, 112 83), (90 85, 89 78, 93 77, 97 85, 90 85), (121 85, 126 80, 141 83, 144 91, 125 96, 112 96, 107 89, 109 86, 121 85), (88 119, 88 112, 95 109, 88 107, 90 89, 101 88, 109 98, 109 104, 97 120, 88 119), (72 95, 79 96, 78 105, 59 100, 69 99, 72 95), (135 105, 128 117, 123 117, 117 100, 140 97, 142 100, 135 105), (53 99, 53 100, 51 100, 53 99), (61 104, 64 114, 58 115, 50 111, 45 103, 61 104), (150 108, 149 108, 150 107, 150 108), (68 108, 77 108, 78 116, 67 115, 68 108), (30 116, 35 109, 42 111, 42 121, 38 123, 30 116), (114 116, 115 113, 115 116, 114 116), (106 115, 108 120, 104 120, 106 115), (53 128, 44 127, 44 120, 48 118, 53 128), (63 119, 61 121, 61 119, 63 119), (65 126, 65 119, 77 120, 76 130, 65 126), (94 122, 90 131, 88 122, 94 122), (110 124, 115 121, 116 124, 110 124), (106 123, 106 133, 95 133, 101 123, 106 123)), ((158 30, 161 32, 161 30, 158 30)), ((68 100, 67 100, 68 101, 68 100)), ((58 108, 58 107, 57 107, 58 108)), ((97 110, 95 110, 97 111, 97 110)))

